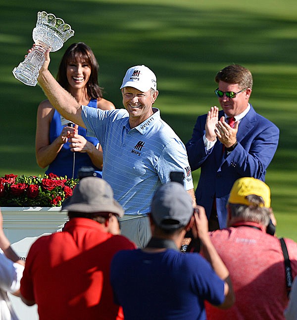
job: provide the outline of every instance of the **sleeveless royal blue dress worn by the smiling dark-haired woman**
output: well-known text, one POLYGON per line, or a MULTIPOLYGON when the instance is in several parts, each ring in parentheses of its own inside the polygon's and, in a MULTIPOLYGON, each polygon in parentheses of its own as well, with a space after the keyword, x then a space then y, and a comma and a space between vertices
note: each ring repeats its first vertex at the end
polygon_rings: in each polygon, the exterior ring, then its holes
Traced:
MULTIPOLYGON (((92 108, 97 108, 97 99, 92 99, 89 102, 88 106, 92 108)), ((62 129, 63 129, 63 126, 61 125, 60 114, 55 110, 52 120, 50 122, 50 127, 49 127, 50 143, 52 143, 52 141, 55 140, 60 135, 62 129)), ((95 146, 97 145, 97 143, 99 143, 98 139, 86 136, 87 130, 85 128, 78 127, 78 134, 84 136, 88 141, 93 143, 95 146)), ((102 177, 101 172, 99 171, 99 168, 94 166, 89 155, 87 153, 82 153, 82 152, 72 152, 70 150, 69 142, 64 143, 64 145, 62 146, 62 149, 57 154, 56 158, 49 165, 49 168, 46 171, 46 174, 49 174, 51 172, 60 177, 67 176, 67 178, 72 178, 74 153, 75 153, 75 165, 74 165, 73 178, 77 178, 78 170, 81 167, 93 167, 96 170, 97 177, 99 178, 102 177)))

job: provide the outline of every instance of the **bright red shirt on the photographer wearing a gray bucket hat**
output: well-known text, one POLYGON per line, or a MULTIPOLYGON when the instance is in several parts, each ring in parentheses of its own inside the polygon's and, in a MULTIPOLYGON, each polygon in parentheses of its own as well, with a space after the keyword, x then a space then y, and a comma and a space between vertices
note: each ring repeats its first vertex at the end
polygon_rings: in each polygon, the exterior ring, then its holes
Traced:
POLYGON ((21 293, 36 301, 40 320, 122 319, 113 303, 109 269, 114 254, 125 249, 135 245, 106 233, 94 220, 73 218, 62 232, 31 246, 21 293))

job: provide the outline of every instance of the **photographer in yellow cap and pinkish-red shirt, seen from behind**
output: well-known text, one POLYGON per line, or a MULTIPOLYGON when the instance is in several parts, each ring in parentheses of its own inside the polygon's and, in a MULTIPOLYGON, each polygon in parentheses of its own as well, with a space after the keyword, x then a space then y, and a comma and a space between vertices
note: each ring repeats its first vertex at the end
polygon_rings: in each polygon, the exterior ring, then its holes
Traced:
MULTIPOLYGON (((227 210, 228 228, 216 230, 210 237, 230 271, 236 302, 229 310, 206 304, 207 317, 212 320, 284 319, 290 283, 286 281, 288 267, 285 273, 281 242, 271 235, 271 228, 267 228, 269 220, 274 218, 269 187, 258 179, 238 179, 230 192, 227 210)), ((294 278, 297 244, 290 239, 285 239, 285 244, 294 278)))

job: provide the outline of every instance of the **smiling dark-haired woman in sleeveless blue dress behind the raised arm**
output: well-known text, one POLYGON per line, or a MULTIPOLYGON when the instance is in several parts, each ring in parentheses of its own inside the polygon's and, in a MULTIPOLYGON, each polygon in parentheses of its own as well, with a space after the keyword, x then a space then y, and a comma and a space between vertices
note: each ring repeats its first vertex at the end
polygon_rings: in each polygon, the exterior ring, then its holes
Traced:
MULTIPOLYGON (((81 105, 102 110, 115 109, 102 98, 98 84, 99 65, 91 48, 74 43, 65 52, 59 65, 57 81, 81 105)), ((71 124, 52 107, 49 100, 42 101, 37 111, 36 160, 46 173, 77 178, 81 167, 100 171, 102 149, 96 138, 86 137, 86 129, 71 124)), ((99 175, 99 174, 98 174, 99 175)))

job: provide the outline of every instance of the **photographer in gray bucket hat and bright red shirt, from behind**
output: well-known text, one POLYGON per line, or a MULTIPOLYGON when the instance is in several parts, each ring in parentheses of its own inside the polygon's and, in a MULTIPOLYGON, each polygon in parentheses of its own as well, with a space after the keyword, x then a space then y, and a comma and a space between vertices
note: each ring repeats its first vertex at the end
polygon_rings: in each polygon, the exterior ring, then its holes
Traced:
POLYGON ((120 320, 109 284, 112 257, 135 245, 119 235, 123 208, 106 181, 81 179, 63 202, 69 221, 62 232, 38 238, 31 246, 21 280, 22 300, 38 305, 40 320, 120 320))

